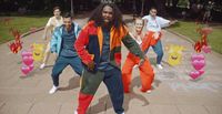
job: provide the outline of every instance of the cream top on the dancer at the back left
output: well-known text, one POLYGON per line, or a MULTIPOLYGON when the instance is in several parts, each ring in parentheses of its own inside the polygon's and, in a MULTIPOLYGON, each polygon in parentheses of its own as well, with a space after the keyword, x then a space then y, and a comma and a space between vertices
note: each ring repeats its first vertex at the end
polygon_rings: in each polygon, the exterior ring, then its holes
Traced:
POLYGON ((51 31, 53 31, 57 27, 60 27, 63 24, 63 19, 61 17, 60 20, 58 20, 56 17, 52 17, 49 19, 49 21, 47 22, 47 27, 49 27, 51 29, 51 31))

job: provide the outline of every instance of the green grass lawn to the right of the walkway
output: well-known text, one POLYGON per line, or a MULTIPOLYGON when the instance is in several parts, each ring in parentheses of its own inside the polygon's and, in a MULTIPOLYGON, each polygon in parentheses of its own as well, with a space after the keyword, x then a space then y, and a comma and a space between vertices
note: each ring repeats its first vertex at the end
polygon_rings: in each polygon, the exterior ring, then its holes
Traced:
MULTIPOLYGON (((212 27, 213 32, 208 37, 209 44, 212 50, 222 53, 222 25, 212 27)), ((173 30, 180 34, 186 35, 193 41, 200 40, 199 33, 195 31, 196 25, 194 22, 180 21, 175 25, 172 25, 170 30, 173 30)))

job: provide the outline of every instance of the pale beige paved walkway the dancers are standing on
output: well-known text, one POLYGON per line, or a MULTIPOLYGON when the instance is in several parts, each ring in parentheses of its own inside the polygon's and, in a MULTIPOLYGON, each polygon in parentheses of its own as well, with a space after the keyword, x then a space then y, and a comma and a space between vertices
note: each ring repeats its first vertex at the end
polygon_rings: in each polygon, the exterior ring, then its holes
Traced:
MULTIPOLYGON (((127 20, 131 17, 125 15, 127 20)), ((83 25, 85 19, 77 19, 83 25)), ((129 24, 131 27, 131 23, 129 24)), ((30 44, 44 43, 42 31, 22 39, 23 49, 30 44)), ((219 54, 204 54, 205 73, 196 81, 192 81, 189 72, 193 70, 190 58, 194 53, 192 44, 186 40, 164 31, 162 43, 164 49, 169 44, 179 44, 185 48, 182 63, 169 66, 168 52, 164 53, 163 70, 153 64, 155 71, 154 90, 151 94, 141 93, 139 71, 133 71, 132 92, 125 94, 125 114, 222 114, 222 58, 219 54)), ((128 50, 122 48, 123 59, 128 50)), ((0 45, 0 114, 73 114, 77 107, 79 92, 79 76, 69 66, 60 76, 60 91, 48 94, 52 86, 50 77, 52 66, 39 70, 36 63, 34 71, 22 77, 21 55, 9 51, 8 44, 0 45)), ((148 56, 153 63, 155 54, 152 50, 148 56)), ((51 58, 52 60, 52 58, 51 58)), ((53 64, 50 61, 49 64, 53 64)), ((114 114, 108 91, 102 83, 90 105, 88 114, 114 114)))

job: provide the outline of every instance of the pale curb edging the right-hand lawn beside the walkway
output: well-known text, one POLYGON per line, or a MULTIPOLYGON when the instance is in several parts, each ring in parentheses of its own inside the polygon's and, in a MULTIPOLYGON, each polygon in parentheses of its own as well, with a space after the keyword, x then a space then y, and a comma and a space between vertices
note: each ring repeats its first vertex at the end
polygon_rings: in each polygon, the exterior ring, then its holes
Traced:
MULTIPOLYGON (((178 35, 178 37, 180 37, 180 38, 186 40, 186 41, 189 41, 189 42, 192 43, 192 44, 195 43, 195 42, 194 42, 193 40, 191 40, 190 38, 188 38, 188 37, 185 37, 185 35, 182 35, 182 34, 180 34, 180 33, 178 33, 178 32, 174 32, 174 31, 169 30, 169 29, 168 29, 167 31, 170 32, 170 33, 173 33, 173 34, 175 34, 175 35, 178 35)), ((222 54, 220 54, 220 53, 218 53, 218 52, 215 52, 215 51, 213 51, 213 50, 211 51, 211 53, 214 54, 214 55, 216 55, 216 56, 222 58, 222 54)))

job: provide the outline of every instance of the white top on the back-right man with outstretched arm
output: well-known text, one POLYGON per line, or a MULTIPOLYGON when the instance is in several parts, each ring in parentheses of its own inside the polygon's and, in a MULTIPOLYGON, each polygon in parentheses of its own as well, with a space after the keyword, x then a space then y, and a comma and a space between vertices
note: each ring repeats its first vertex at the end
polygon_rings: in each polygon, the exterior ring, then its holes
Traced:
POLYGON ((144 15, 142 19, 147 20, 147 30, 153 32, 160 32, 161 28, 169 27, 170 22, 161 17, 152 18, 151 15, 144 15))

